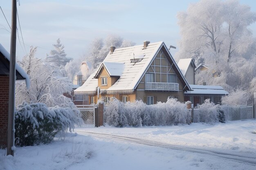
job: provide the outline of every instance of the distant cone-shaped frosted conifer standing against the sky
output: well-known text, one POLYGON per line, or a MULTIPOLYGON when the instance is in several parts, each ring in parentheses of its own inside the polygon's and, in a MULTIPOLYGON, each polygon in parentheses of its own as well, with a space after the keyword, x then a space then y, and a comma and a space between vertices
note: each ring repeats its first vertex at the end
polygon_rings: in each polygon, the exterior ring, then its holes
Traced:
POLYGON ((57 43, 53 44, 54 49, 50 51, 49 55, 46 54, 45 63, 54 66, 65 66, 71 59, 66 57, 64 51, 64 45, 61 44, 61 40, 58 38, 57 43))

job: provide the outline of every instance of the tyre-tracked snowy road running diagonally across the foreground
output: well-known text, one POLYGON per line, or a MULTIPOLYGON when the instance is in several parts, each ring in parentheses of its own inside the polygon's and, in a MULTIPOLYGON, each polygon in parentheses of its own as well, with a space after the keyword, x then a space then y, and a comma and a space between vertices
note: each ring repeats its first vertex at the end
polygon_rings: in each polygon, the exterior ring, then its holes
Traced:
POLYGON ((77 133, 83 135, 90 135, 92 137, 100 138, 100 139, 112 139, 115 141, 126 141, 131 143, 137 143, 137 144, 143 144, 148 146, 155 146, 155 147, 161 147, 161 148, 168 148, 172 150, 181 150, 186 152, 193 152, 198 154, 204 154, 207 156, 213 156, 213 157, 219 157, 222 159, 227 159, 229 161, 235 161, 239 163, 245 163, 252 166, 256 166, 256 157, 254 154, 249 153, 230 153, 230 152, 221 152, 216 150, 207 150, 207 149, 199 149, 199 148, 191 148, 191 147, 181 147, 181 146, 175 146, 171 144, 166 144, 162 142, 157 141, 149 141, 146 139, 140 139, 135 137, 127 137, 127 136, 120 136, 120 135, 111 135, 107 133, 97 133, 97 132, 85 132, 85 131, 79 131, 76 130, 77 133))

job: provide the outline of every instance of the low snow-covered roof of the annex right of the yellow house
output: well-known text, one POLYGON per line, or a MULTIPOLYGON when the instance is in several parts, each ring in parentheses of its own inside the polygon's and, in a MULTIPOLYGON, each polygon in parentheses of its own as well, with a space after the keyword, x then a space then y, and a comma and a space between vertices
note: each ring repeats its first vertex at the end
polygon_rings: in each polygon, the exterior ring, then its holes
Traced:
POLYGON ((186 91, 184 94, 200 94, 200 95, 228 95, 221 86, 204 86, 204 85, 189 85, 193 91, 186 91))

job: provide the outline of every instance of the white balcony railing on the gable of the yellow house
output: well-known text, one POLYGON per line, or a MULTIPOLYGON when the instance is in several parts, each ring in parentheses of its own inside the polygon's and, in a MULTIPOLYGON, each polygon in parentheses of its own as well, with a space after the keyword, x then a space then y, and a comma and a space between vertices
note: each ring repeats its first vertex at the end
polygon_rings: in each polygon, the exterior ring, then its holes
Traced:
POLYGON ((179 84, 178 83, 148 82, 148 83, 145 83, 145 90, 148 90, 148 91, 179 91, 179 84))

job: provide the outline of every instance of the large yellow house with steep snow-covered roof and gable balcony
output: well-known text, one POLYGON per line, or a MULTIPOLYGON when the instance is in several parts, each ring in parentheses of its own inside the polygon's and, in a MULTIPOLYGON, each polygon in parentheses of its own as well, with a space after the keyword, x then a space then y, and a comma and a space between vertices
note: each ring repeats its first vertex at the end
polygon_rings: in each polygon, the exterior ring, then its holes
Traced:
POLYGON ((164 42, 145 41, 120 49, 111 46, 97 71, 74 91, 74 101, 93 104, 116 97, 124 103, 137 99, 155 104, 175 97, 184 102, 186 91, 191 87, 164 42))

